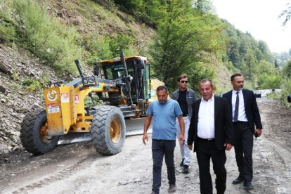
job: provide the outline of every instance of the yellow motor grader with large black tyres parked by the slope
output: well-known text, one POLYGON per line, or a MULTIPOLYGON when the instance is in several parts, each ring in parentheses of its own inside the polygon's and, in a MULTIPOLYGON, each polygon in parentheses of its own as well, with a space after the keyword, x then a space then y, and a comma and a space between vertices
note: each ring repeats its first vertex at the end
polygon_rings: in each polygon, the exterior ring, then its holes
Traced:
POLYGON ((120 58, 94 65, 89 77, 84 77, 79 61, 75 63, 81 77, 48 84, 46 109, 33 110, 22 121, 22 145, 34 155, 53 150, 60 137, 74 133, 90 133, 98 153, 115 155, 124 145, 125 119, 145 117, 150 100, 156 98, 148 58, 124 58, 121 52, 120 58), (93 101, 93 96, 105 105, 86 107, 85 98, 93 101))

